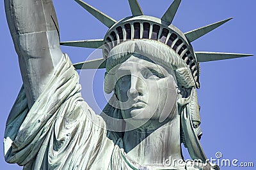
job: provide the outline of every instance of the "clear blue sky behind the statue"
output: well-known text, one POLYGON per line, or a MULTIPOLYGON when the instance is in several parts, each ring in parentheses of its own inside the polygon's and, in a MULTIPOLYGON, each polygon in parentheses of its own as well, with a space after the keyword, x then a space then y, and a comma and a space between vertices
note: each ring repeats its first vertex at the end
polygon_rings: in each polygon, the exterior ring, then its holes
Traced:
MULTIPOLYGON (((87 3, 95 6, 109 16, 120 20, 131 15, 128 1, 108 0, 87 3)), ((161 18, 172 1, 139 0, 145 15, 161 18)), ((107 27, 83 10, 75 1, 54 1, 60 25, 61 41, 104 38, 107 27)), ((8 30, 4 14, 3 1, 0 3, 0 169, 22 169, 4 162, 3 136, 5 122, 22 85, 17 54, 8 30)), ((173 25, 187 32, 204 25, 234 17, 218 29, 192 43, 195 51, 252 53, 255 50, 256 1, 205 1, 184 0, 180 4, 173 25)), ((31 14, 33 15, 33 14, 31 14)), ((92 49, 62 48, 72 62, 86 59, 92 49)), ((100 53, 97 55, 100 56, 100 53)), ((256 57, 221 60, 201 63, 198 101, 201 106, 201 139, 207 157, 216 159, 216 152, 221 152, 221 159, 237 159, 239 162, 253 162, 256 167, 255 145, 255 96, 256 96, 256 57)), ((90 71, 87 72, 88 74, 90 71)), ((93 92, 99 108, 103 108, 102 82, 104 71, 97 72, 93 80, 93 92)), ((82 72, 83 76, 86 72, 82 72)), ((83 87, 83 83, 82 83, 83 87)), ((83 87, 85 90, 90 90, 83 87)), ((91 90, 92 91, 92 90, 91 90)), ((83 92, 83 95, 86 92, 83 92)), ((86 98, 86 97, 85 97, 86 98)), ((86 99, 87 100, 87 99, 86 99)), ((99 113, 91 99, 88 103, 99 113)), ((186 154, 186 158, 188 158, 186 154)), ((237 163, 239 164, 239 163, 237 163)), ((221 169, 254 169, 253 167, 221 167, 221 169)))

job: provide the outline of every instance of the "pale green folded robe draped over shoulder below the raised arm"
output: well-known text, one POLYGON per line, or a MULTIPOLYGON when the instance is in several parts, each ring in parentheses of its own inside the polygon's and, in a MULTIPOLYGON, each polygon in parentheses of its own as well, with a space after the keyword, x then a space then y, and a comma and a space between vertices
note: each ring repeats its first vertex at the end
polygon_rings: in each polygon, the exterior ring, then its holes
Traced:
POLYGON ((7 162, 24 169, 108 169, 114 143, 104 120, 83 101, 78 82, 65 55, 31 110, 22 86, 6 122, 7 162))

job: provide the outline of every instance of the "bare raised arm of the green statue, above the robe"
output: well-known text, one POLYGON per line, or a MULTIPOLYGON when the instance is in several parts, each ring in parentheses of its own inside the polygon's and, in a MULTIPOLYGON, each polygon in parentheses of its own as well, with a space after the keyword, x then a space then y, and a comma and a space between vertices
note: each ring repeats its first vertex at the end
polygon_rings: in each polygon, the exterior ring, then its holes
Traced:
POLYGON ((31 108, 63 57, 52 0, 4 0, 31 108))

